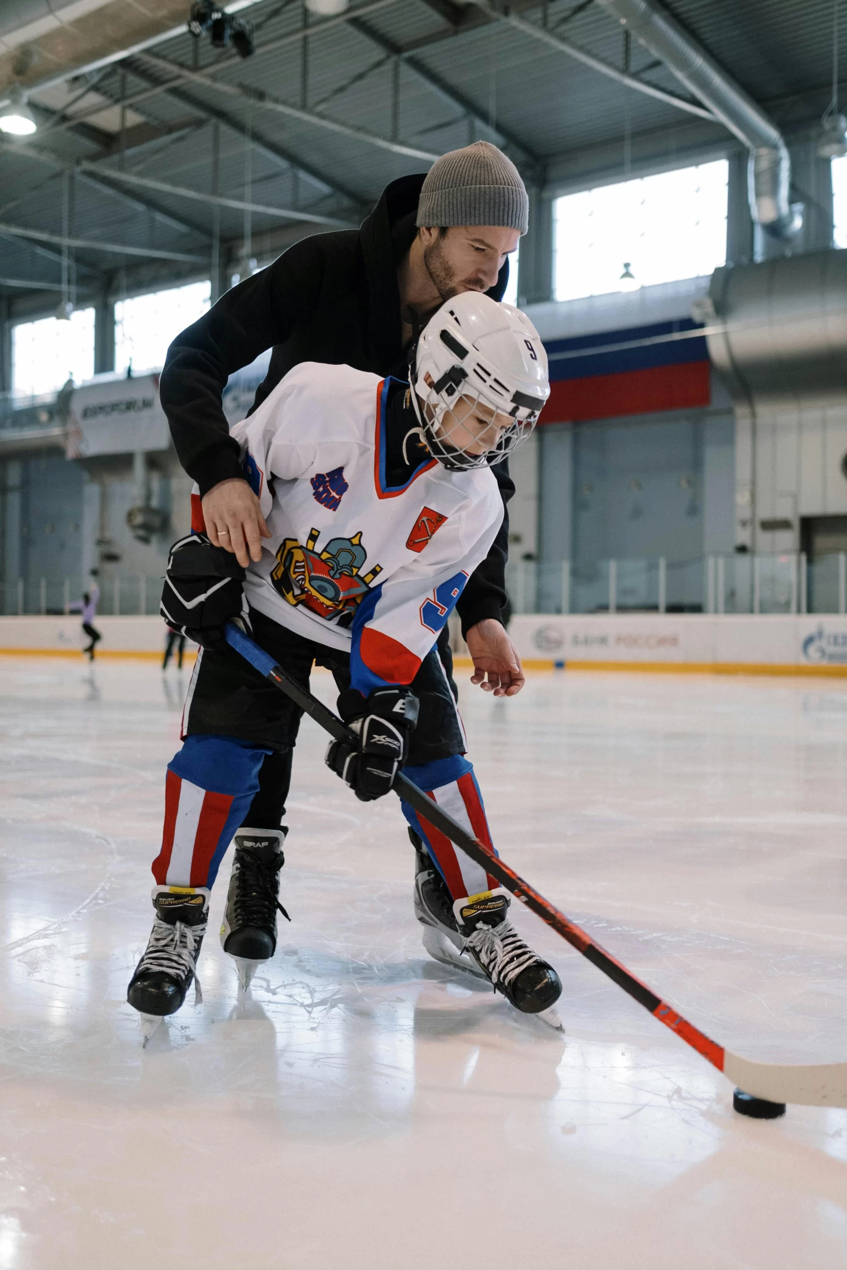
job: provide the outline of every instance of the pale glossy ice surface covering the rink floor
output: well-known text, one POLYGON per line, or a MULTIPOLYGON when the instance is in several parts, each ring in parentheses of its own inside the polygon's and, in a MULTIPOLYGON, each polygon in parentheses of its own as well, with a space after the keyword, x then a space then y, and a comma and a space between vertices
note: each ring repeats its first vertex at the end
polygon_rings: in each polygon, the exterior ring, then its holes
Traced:
MULTIPOLYGON (((466 679, 516 869, 737 1053, 847 1059, 847 686, 466 679)), ((396 804, 357 803, 309 721, 277 956, 239 997, 227 857, 203 1005, 142 1049, 124 994, 185 683, 0 659, 0 1270, 844 1264, 847 1111, 739 1118, 523 909, 564 1038, 429 960, 396 804)))

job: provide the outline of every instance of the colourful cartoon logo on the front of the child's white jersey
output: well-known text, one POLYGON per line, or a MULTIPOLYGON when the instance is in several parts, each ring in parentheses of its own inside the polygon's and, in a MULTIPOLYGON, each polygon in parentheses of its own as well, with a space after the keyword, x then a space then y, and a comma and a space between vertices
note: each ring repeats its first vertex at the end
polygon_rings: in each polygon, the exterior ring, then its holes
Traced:
POLYGON ((359 575, 367 559, 361 531, 352 538, 330 538, 323 551, 316 550, 319 537, 320 530, 310 530, 306 546, 286 538, 270 580, 290 605, 302 605, 335 626, 349 626, 382 565, 359 575))

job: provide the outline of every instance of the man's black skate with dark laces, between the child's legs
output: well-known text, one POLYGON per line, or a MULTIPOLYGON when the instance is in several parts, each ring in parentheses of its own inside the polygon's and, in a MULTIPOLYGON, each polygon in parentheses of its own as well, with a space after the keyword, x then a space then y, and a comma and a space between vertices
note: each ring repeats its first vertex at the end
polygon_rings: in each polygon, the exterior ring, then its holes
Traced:
POLYGON ((235 834, 235 860, 221 925, 221 945, 234 958, 241 992, 255 968, 277 950, 277 911, 291 921, 278 900, 279 870, 286 862, 282 843, 288 829, 245 829, 235 834))

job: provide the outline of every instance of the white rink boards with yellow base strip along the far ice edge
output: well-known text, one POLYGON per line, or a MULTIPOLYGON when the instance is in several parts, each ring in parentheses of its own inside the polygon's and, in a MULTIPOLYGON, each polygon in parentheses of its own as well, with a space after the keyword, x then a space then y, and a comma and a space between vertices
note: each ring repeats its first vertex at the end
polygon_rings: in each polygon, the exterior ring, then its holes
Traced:
MULTIPOLYGON (((98 657, 159 658, 165 646, 156 616, 98 617, 97 629, 98 657)), ((522 613, 509 635, 537 669, 847 676, 847 616, 522 613)), ((0 654, 76 657, 84 640, 76 616, 0 617, 0 654)))

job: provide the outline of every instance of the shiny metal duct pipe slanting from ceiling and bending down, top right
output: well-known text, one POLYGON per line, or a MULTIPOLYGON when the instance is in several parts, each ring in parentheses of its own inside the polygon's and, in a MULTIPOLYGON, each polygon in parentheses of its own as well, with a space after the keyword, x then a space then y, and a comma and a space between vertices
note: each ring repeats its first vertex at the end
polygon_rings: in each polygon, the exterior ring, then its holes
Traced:
POLYGON ((782 135, 767 114, 734 84, 682 27, 651 0, 597 0, 660 58, 681 84, 710 108, 733 136, 749 147, 750 216, 773 237, 803 226, 803 204, 789 202, 791 160, 782 135))

